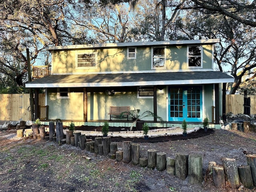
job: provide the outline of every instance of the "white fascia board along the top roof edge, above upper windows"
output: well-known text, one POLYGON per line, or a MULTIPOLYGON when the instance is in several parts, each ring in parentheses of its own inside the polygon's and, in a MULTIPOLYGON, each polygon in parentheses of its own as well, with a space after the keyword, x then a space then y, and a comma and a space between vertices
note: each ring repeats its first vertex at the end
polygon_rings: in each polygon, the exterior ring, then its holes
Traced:
POLYGON ((200 39, 200 40, 178 40, 178 41, 150 41, 150 42, 126 42, 126 43, 104 43, 104 44, 83 44, 66 46, 49 46, 46 50, 67 50, 67 49, 95 49, 111 47, 130 47, 130 46, 163 46, 163 45, 183 45, 183 44, 215 44, 220 39, 200 39))

